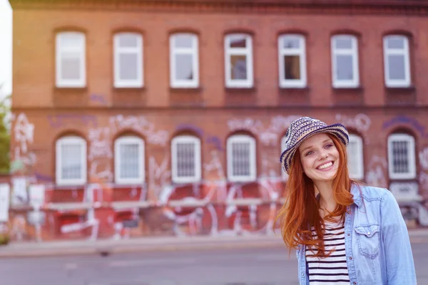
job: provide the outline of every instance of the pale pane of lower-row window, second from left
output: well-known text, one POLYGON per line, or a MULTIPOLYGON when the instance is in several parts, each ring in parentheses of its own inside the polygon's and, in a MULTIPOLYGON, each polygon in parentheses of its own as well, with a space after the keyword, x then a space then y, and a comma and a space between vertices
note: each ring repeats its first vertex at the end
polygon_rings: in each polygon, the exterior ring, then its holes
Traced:
POLYGON ((121 157, 120 177, 121 178, 138 178, 140 172, 138 144, 121 144, 119 147, 121 157))

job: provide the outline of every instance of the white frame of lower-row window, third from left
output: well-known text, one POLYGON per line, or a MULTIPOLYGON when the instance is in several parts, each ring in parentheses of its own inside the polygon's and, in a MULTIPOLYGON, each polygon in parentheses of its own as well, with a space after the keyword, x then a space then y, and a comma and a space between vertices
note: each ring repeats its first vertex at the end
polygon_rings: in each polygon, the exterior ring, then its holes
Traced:
POLYGON ((178 135, 171 140, 171 174, 172 180, 175 183, 195 183, 201 179, 201 159, 200 159, 200 139, 193 135, 178 135), (195 176, 193 177, 178 177, 177 168, 177 144, 180 142, 193 143, 195 157, 195 176))

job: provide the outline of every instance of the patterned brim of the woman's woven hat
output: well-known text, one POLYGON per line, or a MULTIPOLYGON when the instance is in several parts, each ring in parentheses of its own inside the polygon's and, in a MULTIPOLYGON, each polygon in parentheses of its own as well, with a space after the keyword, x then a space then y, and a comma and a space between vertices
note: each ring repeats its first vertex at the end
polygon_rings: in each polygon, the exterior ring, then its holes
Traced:
POLYGON ((349 134, 347 132, 347 129, 345 128, 345 125, 342 125, 340 123, 327 125, 317 130, 313 130, 312 132, 304 135, 302 138, 299 138, 299 140, 297 140, 297 142, 294 145, 288 147, 286 150, 282 152, 280 160, 281 160, 282 168, 284 168, 285 172, 288 173, 288 170, 290 169, 292 157, 295 155, 297 148, 302 144, 302 142, 307 138, 312 137, 312 135, 316 135, 318 133, 330 133, 332 135, 335 135, 335 137, 338 138, 340 142, 342 142, 343 145, 345 146, 347 146, 349 143, 349 134))

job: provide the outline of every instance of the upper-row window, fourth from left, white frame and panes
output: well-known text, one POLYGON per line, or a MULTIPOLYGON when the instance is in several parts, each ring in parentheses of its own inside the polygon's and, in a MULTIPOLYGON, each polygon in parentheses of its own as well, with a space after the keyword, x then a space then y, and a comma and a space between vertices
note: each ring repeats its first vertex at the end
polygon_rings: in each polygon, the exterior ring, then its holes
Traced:
POLYGON ((253 87, 253 42, 251 36, 233 33, 225 38, 226 87, 253 87))

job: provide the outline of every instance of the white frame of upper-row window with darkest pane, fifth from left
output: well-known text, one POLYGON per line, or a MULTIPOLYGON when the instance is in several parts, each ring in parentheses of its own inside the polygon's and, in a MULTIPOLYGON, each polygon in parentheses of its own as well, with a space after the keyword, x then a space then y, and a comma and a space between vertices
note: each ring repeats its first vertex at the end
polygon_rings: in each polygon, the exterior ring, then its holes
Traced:
POLYGON ((294 33, 287 33, 278 38, 278 66, 280 75, 280 88, 305 88, 306 79, 306 43, 305 36, 294 33), (282 44, 287 38, 298 38, 300 48, 284 48, 282 44), (284 56, 299 56, 300 79, 285 79, 284 56))

